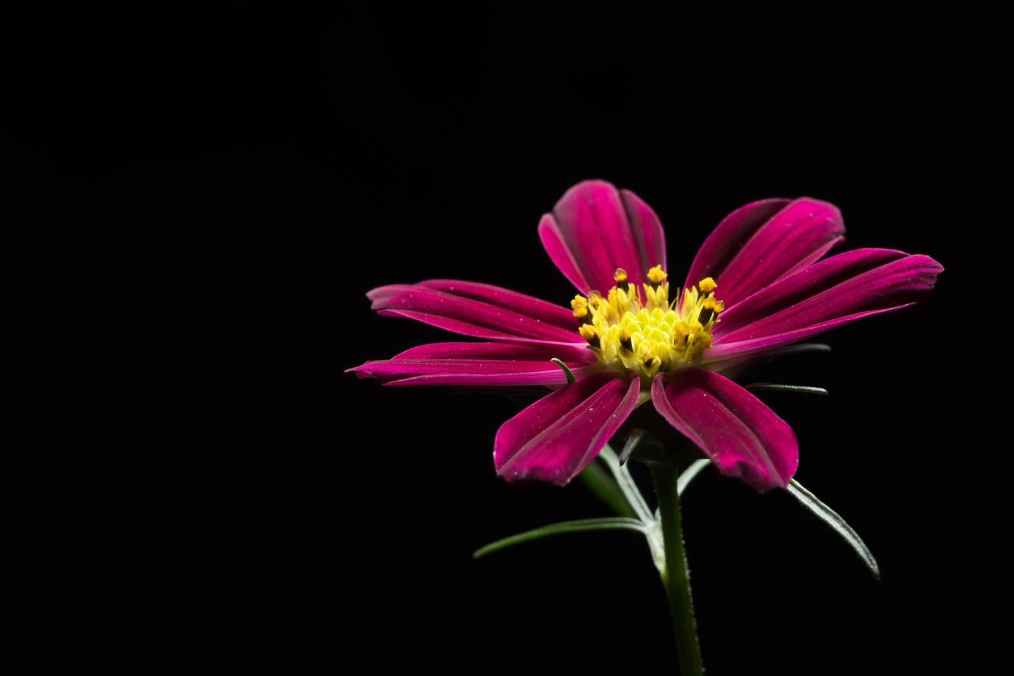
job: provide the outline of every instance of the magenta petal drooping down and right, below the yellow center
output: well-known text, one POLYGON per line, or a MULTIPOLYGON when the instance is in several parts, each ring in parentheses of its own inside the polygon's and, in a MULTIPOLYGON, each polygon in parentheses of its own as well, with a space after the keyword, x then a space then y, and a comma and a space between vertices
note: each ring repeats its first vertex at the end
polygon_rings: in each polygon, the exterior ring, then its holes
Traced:
POLYGON ((723 474, 764 493, 784 489, 796 473, 799 445, 792 428, 728 378, 694 367, 660 373, 651 398, 723 474))

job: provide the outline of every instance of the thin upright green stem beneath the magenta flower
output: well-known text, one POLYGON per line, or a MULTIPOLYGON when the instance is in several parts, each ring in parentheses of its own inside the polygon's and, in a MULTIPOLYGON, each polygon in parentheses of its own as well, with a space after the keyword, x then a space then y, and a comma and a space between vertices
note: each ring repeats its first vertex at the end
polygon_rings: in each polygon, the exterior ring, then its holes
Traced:
POLYGON ((651 463, 651 477, 658 496, 662 516, 662 545, 665 549, 665 570, 662 583, 672 612, 672 627, 676 633, 676 657, 681 676, 703 676, 701 646, 694 621, 694 602, 691 599, 691 579, 683 551, 682 526, 679 523, 679 494, 676 480, 679 473, 668 463, 651 463))

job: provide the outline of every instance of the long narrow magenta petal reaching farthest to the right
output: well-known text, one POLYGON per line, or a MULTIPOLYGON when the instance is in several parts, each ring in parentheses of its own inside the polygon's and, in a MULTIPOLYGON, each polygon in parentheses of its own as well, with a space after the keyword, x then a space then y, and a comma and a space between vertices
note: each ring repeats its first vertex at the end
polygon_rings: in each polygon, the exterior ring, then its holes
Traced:
POLYGON ((927 255, 857 249, 821 260, 722 313, 715 362, 763 352, 925 298, 943 267, 927 255))

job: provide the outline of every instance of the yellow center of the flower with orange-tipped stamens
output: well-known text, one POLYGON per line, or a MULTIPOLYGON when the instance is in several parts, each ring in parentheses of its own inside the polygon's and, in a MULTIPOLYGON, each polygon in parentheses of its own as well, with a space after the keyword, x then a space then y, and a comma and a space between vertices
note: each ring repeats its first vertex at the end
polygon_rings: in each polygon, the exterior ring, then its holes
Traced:
POLYGON ((701 363, 711 347, 711 328, 724 309, 715 300, 715 280, 707 277, 697 286, 678 289, 669 302, 669 283, 661 266, 648 271, 647 282, 636 286, 618 269, 617 286, 601 296, 578 295, 571 308, 578 332, 603 365, 633 371, 647 386, 659 371, 675 371, 701 363))

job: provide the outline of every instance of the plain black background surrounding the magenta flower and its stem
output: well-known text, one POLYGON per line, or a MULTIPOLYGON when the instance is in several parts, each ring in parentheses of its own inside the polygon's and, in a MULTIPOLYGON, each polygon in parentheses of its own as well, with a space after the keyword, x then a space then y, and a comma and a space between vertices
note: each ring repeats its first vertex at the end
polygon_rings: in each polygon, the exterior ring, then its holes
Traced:
MULTIPOLYGON (((344 374, 444 340, 427 278, 558 302, 538 217, 609 179, 679 279, 765 197, 925 252, 933 299, 758 379, 799 479, 683 517, 714 674, 984 673, 1009 628, 1011 134, 989 17, 48 7, 5 45, 0 672, 672 673, 647 548, 491 462, 523 403, 344 374)), ((642 476, 643 478, 643 476, 642 476)))

